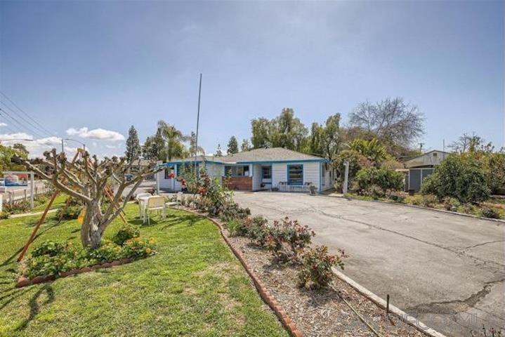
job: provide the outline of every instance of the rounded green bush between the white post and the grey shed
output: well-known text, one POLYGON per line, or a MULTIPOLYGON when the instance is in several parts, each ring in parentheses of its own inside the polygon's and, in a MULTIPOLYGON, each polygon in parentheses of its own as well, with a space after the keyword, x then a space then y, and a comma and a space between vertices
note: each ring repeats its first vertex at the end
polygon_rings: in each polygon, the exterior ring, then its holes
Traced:
POLYGON ((381 190, 402 190, 403 174, 392 169, 369 167, 360 169, 356 173, 355 180, 358 183, 360 191, 367 191, 370 187, 376 185, 381 190))

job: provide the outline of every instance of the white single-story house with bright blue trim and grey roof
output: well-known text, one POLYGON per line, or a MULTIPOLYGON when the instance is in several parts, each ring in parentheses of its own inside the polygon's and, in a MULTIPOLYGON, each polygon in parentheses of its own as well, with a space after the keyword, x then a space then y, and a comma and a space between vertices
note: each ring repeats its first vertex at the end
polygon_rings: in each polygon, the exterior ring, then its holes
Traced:
POLYGON ((173 159, 162 164, 158 174, 159 188, 180 191, 181 172, 197 166, 204 167, 211 178, 228 177, 233 190, 308 191, 315 185, 317 192, 332 188, 332 169, 327 159, 282 147, 256 149, 223 157, 197 156, 173 159))

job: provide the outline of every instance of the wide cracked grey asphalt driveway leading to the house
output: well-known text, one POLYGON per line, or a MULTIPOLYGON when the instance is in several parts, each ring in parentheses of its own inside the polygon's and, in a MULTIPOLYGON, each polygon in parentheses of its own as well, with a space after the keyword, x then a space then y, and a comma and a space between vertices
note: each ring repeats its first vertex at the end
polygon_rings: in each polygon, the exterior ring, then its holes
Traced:
POLYGON ((447 336, 504 329, 505 223, 308 194, 236 192, 235 200, 309 225, 316 244, 349 254, 346 275, 447 336))

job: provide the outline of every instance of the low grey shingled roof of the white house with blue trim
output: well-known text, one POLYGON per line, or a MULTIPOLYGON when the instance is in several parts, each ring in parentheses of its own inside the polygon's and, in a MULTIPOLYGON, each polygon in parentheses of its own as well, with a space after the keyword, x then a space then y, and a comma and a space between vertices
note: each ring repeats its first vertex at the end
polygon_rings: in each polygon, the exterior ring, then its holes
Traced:
MULTIPOLYGON (((256 149, 251 151, 228 154, 223 157, 198 156, 197 161, 211 161, 220 164, 252 164, 271 163, 282 161, 327 161, 327 159, 284 149, 284 147, 270 147, 267 149, 256 149)), ((172 159, 170 163, 184 163, 195 161, 195 157, 185 159, 172 159)))

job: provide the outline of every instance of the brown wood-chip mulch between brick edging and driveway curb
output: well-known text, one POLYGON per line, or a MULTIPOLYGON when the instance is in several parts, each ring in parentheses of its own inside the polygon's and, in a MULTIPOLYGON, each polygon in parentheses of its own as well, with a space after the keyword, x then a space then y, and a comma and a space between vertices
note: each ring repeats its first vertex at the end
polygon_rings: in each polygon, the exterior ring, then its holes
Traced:
POLYGON ((303 336, 376 336, 340 296, 382 336, 426 336, 398 317, 386 316, 385 310, 340 279, 335 279, 334 289, 300 289, 296 286, 298 271, 294 266, 275 263, 267 251, 251 244, 247 238, 228 239, 303 336))

